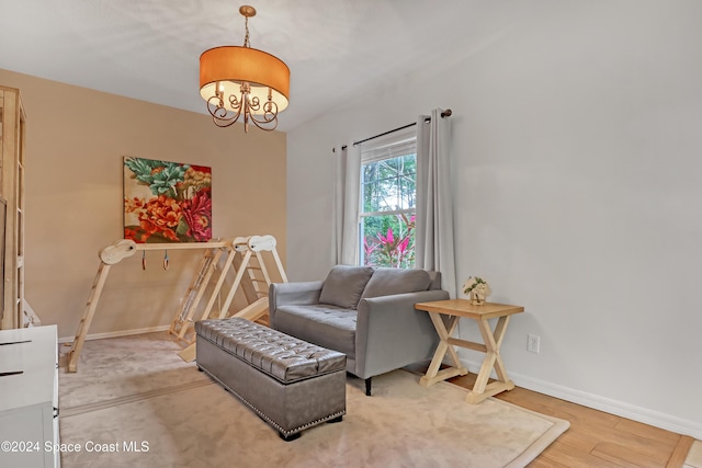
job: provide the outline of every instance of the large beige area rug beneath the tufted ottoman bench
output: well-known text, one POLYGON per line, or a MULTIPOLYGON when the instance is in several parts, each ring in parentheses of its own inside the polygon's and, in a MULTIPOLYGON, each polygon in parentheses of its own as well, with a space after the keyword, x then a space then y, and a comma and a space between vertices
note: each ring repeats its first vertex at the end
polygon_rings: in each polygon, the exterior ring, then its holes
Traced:
POLYGON ((349 376, 343 421, 284 442, 179 350, 162 333, 89 341, 78 373, 61 367, 60 438, 81 450, 63 452, 64 468, 523 467, 569 426, 395 370, 373 397, 349 376))

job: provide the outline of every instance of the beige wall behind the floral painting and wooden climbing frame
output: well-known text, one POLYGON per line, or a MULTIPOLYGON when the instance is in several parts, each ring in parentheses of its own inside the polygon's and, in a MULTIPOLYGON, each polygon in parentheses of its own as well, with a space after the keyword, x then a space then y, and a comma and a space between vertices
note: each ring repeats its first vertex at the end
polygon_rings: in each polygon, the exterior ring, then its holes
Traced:
MULTIPOLYGON (((123 156, 210 165, 213 236, 270 233, 285 259, 285 134, 0 69, 27 115, 26 287, 43 323, 72 336, 98 251, 123 237, 123 156)), ((196 83, 193 84, 196 92, 196 83)), ((204 103, 203 103, 204 105, 204 103)), ((90 334, 169 324, 201 253, 140 252, 112 267, 90 334)))

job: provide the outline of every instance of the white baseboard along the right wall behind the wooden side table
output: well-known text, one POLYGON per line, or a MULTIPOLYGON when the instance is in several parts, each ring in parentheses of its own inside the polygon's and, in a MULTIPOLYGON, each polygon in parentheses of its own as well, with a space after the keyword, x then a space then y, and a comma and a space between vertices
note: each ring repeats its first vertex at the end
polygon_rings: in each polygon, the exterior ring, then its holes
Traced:
MULTIPOLYGON (((471 373, 477 374, 480 369, 482 363, 464 359, 461 362, 471 373)), ((665 429, 666 431, 702 440, 702 424, 698 422, 636 407, 634 404, 601 397, 599 395, 588 393, 586 391, 552 384, 550 381, 540 380, 523 374, 509 372, 509 369, 508 375, 517 387, 526 388, 550 397, 559 398, 573 403, 582 404, 584 407, 626 418, 632 421, 638 421, 644 424, 665 429)), ((492 378, 496 378, 495 373, 492 373, 492 378)))

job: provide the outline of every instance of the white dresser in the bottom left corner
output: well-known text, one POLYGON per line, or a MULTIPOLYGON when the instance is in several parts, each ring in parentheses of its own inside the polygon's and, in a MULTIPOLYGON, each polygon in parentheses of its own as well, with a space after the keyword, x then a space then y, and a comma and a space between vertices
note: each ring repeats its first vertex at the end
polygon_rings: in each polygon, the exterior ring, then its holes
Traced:
POLYGON ((0 331, 0 467, 59 467, 56 326, 0 331))

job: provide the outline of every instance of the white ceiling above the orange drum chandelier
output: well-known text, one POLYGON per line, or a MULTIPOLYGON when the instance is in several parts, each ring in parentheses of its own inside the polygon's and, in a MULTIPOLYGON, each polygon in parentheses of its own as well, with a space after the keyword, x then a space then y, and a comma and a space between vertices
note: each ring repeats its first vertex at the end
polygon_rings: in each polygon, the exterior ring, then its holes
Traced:
MULTIPOLYGON (((247 0, 0 0, 0 68, 206 113, 199 58, 242 45, 247 0)), ((290 130, 505 32, 520 0, 251 0, 251 47, 291 69, 290 130)))

